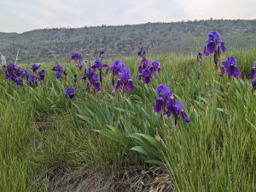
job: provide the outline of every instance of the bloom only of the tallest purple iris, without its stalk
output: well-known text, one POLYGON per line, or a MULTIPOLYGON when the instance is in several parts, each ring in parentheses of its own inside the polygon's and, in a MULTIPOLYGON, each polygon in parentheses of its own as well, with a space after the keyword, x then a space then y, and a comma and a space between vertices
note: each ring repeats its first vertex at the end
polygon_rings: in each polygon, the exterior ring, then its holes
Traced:
POLYGON ((206 39, 206 46, 204 48, 204 54, 209 56, 210 54, 214 53, 215 51, 222 51, 226 52, 227 49, 224 46, 224 42, 221 41, 220 34, 217 31, 211 31, 207 34, 206 39), (220 44, 218 46, 218 44, 220 44))

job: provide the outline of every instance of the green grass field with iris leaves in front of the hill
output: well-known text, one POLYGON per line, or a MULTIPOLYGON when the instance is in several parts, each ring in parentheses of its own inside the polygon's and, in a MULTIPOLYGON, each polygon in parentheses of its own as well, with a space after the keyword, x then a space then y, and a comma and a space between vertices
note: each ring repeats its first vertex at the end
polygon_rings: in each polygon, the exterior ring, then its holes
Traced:
MULTIPOLYGON (((121 58, 135 90, 115 96, 110 76, 100 93, 85 93, 79 82, 76 97, 68 100, 53 64, 41 66, 47 74, 36 88, 16 88, 1 72, 0 191, 118 191, 113 181, 131 167, 156 166, 166 176, 159 188, 255 191, 256 99, 245 75, 256 49, 233 50, 222 59, 227 55, 236 57, 243 76, 232 79, 224 93, 220 85, 225 88, 229 79, 218 76, 212 58, 204 58, 199 68, 196 56, 183 54, 149 55, 160 61, 161 72, 148 85, 136 79, 140 58, 121 58), (162 82, 192 122, 180 119, 175 127, 173 117, 154 113, 155 88, 162 82)), ((68 74, 78 73, 73 63, 62 65, 68 74)), ((119 185, 148 190, 137 188, 139 179, 119 185)))

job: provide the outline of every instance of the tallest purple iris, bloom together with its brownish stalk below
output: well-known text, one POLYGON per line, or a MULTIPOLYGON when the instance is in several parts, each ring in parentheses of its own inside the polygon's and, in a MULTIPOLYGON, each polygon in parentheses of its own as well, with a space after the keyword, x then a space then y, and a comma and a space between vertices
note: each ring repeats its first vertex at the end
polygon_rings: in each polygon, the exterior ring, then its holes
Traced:
POLYGON ((218 31, 210 31, 207 33, 206 45, 204 48, 204 54, 209 56, 213 54, 213 61, 215 69, 218 70, 218 62, 220 59, 221 52, 226 52, 227 48, 225 48, 224 42, 221 40, 220 34, 218 31))

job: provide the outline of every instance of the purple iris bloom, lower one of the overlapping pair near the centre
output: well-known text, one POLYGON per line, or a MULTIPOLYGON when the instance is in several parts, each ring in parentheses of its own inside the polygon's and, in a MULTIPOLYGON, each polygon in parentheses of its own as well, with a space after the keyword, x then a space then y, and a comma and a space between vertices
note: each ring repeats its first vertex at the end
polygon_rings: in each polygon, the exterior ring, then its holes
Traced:
POLYGON ((119 71, 119 80, 116 83, 115 88, 113 89, 113 93, 117 93, 119 88, 121 88, 122 86, 124 91, 133 91, 133 82, 130 76, 130 71, 127 68, 119 71))

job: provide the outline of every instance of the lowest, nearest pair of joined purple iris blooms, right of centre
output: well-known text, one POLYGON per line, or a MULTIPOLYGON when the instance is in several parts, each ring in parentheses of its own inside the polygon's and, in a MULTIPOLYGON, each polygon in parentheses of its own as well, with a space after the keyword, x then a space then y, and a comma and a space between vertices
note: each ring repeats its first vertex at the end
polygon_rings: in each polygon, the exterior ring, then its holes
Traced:
POLYGON ((169 88, 166 87, 164 83, 161 83, 156 88, 156 94, 158 96, 158 99, 156 100, 153 107, 154 112, 160 113, 161 111, 163 111, 164 116, 167 116, 167 118, 173 115, 175 117, 176 126, 179 115, 183 117, 184 121, 191 121, 189 116, 187 116, 187 114, 183 110, 183 104, 179 100, 174 99, 174 97, 172 96, 172 92, 169 88))

